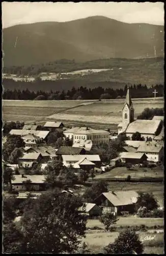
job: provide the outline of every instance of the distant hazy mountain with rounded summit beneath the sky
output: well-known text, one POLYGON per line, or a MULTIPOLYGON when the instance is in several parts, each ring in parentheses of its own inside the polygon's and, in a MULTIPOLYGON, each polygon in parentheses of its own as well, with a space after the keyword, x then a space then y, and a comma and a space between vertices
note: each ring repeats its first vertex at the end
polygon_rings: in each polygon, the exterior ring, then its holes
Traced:
POLYGON ((163 26, 127 24, 103 16, 17 25, 3 30, 4 66, 63 58, 88 61, 163 56, 163 31, 163 26))

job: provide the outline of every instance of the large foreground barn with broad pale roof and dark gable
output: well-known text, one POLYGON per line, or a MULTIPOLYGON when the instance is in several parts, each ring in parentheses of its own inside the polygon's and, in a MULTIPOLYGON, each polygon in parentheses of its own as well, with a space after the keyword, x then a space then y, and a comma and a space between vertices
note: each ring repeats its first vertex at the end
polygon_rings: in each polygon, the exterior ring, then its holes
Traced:
POLYGON ((102 210, 115 212, 121 215, 127 211, 134 212, 134 206, 139 195, 134 190, 128 191, 109 191, 102 193, 94 200, 94 203, 102 208, 102 210))

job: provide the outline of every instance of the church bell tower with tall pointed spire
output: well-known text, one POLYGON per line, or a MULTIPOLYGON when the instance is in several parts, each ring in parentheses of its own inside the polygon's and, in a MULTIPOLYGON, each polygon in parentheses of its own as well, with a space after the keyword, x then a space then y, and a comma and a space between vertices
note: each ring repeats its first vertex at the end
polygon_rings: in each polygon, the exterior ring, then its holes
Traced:
POLYGON ((128 87, 125 104, 122 110, 122 130, 125 131, 128 124, 134 121, 134 107, 132 104, 130 89, 128 87))

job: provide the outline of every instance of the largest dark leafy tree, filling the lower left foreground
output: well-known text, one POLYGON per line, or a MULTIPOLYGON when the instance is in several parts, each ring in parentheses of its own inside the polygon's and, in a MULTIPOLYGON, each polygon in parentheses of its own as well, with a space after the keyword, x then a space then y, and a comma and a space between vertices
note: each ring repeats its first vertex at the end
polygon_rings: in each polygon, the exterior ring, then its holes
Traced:
POLYGON ((85 236, 87 218, 80 215, 80 197, 47 191, 21 218, 26 253, 72 253, 85 236))

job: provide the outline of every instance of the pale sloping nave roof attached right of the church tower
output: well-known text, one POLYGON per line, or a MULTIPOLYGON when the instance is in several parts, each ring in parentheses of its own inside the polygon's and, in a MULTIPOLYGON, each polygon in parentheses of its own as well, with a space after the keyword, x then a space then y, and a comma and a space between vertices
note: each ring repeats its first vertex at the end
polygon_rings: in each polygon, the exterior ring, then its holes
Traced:
POLYGON ((137 119, 132 123, 129 123, 126 129, 126 133, 136 133, 141 134, 155 134, 160 120, 141 120, 137 119))

